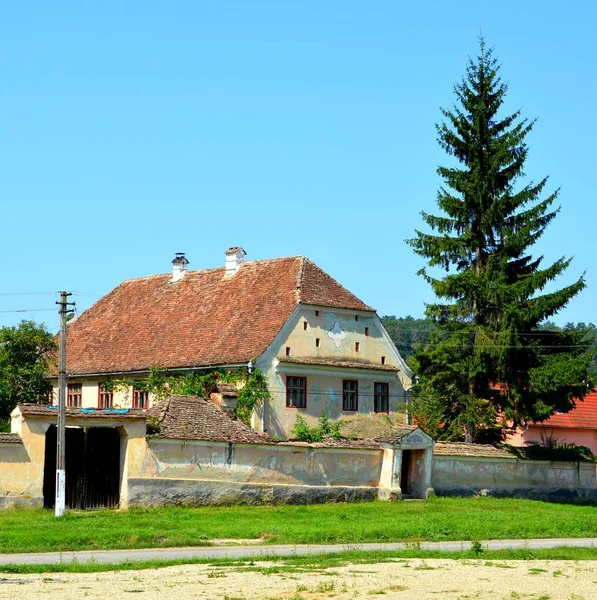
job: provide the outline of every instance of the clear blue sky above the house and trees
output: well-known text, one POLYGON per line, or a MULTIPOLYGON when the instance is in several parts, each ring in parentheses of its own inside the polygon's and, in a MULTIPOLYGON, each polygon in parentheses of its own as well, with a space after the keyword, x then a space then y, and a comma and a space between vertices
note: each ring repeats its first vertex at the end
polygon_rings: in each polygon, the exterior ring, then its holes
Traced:
POLYGON ((440 106, 480 31, 537 118, 535 246, 597 321, 593 2, 11 2, 0 7, 0 325, 57 326, 127 278, 303 254, 380 314, 432 295, 404 243, 435 211, 440 106), (45 309, 40 312, 6 312, 45 309))

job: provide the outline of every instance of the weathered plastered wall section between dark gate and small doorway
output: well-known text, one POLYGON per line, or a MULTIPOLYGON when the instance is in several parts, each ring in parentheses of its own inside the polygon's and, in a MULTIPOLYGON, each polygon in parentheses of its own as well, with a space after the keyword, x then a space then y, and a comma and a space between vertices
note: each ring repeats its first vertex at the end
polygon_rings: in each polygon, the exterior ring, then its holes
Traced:
POLYGON ((377 498, 381 449, 148 439, 129 505, 307 504, 377 498))

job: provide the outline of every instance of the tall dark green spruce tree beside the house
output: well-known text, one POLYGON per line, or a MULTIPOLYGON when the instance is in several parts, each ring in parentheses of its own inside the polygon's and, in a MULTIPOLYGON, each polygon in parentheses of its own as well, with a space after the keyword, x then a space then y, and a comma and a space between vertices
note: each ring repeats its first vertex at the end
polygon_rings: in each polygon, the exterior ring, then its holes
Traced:
POLYGON ((530 254, 559 211, 559 190, 545 193, 547 177, 522 181, 535 121, 520 111, 498 114, 508 90, 499 70, 481 38, 454 86, 455 105, 441 109, 436 125, 438 143, 455 159, 438 168, 442 214, 423 212, 433 233, 408 240, 432 268, 420 274, 439 300, 427 306, 437 328, 417 357, 420 389, 442 399, 445 435, 464 431, 469 442, 498 416, 521 423, 566 412, 593 385, 584 332, 538 330, 585 280, 544 292, 570 264, 562 257, 544 266, 530 254), (435 276, 438 268, 444 276, 435 276))

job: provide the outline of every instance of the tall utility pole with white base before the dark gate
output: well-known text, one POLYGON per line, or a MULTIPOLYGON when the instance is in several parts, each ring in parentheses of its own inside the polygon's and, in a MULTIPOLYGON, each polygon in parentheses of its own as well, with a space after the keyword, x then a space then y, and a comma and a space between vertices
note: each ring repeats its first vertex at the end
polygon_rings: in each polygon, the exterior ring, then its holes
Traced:
POLYGON ((57 517, 63 517, 66 488, 66 460, 64 446, 66 440, 66 322, 68 321, 69 306, 74 306, 74 302, 67 302, 70 292, 60 292, 60 306, 58 314, 60 315, 60 350, 58 367, 58 427, 56 443, 56 500, 54 503, 54 514, 57 517))

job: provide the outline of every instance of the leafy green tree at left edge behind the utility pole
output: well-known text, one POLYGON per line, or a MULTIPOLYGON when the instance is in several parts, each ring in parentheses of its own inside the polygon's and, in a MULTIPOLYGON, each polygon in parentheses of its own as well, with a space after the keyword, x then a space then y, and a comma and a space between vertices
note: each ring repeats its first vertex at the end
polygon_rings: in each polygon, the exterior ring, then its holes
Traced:
POLYGON ((21 321, 0 328, 0 423, 6 423, 17 404, 47 401, 47 379, 54 336, 44 325, 21 321))

